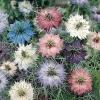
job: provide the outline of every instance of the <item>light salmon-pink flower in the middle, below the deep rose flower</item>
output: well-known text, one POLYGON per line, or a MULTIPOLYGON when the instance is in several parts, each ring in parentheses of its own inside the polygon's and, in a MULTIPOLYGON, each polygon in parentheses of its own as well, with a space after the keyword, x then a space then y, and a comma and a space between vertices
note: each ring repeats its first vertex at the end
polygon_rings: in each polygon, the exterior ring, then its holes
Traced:
POLYGON ((45 34, 39 39, 39 52, 46 57, 55 57, 62 50, 63 40, 59 35, 45 34))

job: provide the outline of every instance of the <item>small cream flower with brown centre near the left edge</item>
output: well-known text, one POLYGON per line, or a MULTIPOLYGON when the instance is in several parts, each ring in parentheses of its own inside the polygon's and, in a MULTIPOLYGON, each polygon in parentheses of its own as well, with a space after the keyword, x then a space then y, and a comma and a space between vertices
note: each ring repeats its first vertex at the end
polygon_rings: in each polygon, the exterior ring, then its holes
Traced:
POLYGON ((6 74, 14 75, 16 73, 17 67, 14 62, 4 62, 0 67, 0 70, 4 71, 6 74))

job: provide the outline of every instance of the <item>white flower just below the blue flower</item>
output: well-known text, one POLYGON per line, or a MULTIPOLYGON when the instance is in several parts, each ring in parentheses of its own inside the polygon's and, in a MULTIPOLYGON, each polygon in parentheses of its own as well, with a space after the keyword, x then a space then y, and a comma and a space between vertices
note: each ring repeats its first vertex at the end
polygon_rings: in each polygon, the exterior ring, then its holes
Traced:
POLYGON ((15 63, 18 63, 19 69, 27 70, 38 58, 36 54, 37 49, 30 45, 20 45, 18 50, 15 51, 15 63))

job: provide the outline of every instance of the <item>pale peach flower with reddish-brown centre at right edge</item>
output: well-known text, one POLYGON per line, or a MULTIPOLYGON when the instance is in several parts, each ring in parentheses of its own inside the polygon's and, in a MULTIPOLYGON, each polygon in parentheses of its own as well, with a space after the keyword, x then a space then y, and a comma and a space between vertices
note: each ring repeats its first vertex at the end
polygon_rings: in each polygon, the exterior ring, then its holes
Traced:
POLYGON ((95 50, 100 50, 100 33, 91 33, 88 36, 87 45, 95 50))

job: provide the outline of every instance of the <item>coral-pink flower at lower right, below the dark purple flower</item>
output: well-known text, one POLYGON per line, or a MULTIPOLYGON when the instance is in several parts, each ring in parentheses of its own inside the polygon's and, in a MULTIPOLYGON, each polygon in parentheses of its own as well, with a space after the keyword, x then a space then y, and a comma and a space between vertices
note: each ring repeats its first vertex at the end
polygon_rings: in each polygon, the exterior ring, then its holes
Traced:
POLYGON ((82 95, 92 90, 91 75, 82 68, 73 70, 68 78, 71 91, 77 95, 82 95))

